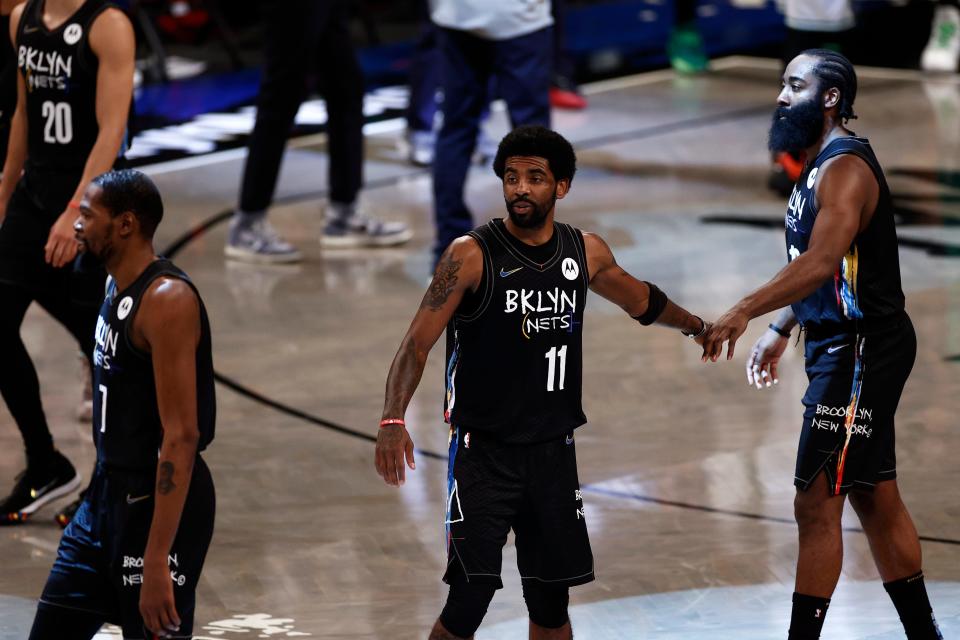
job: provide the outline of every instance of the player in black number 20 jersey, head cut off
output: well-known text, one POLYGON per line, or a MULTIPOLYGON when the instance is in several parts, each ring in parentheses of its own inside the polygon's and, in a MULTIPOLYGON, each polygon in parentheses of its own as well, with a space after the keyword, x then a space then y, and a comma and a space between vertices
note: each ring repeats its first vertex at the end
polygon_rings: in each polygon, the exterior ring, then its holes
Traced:
POLYGON ((27 468, 0 502, 0 523, 23 522, 80 485, 53 446, 20 325, 37 302, 93 352, 104 276, 86 259, 74 268, 73 223, 85 186, 124 146, 135 49, 129 20, 103 0, 29 0, 13 10, 10 32, 19 73, 0 181, 0 394, 27 468))

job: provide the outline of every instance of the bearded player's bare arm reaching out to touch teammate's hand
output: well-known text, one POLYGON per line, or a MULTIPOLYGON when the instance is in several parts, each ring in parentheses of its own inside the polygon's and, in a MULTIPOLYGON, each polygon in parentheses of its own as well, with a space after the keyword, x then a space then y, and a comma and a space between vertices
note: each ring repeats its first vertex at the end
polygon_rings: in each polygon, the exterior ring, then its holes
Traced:
POLYGON ((860 158, 842 155, 824 164, 816 189, 820 212, 809 247, 717 320, 704 340, 704 362, 716 362, 724 342, 729 342, 730 360, 750 320, 802 300, 833 277, 857 233, 869 224, 878 194, 876 177, 860 158))

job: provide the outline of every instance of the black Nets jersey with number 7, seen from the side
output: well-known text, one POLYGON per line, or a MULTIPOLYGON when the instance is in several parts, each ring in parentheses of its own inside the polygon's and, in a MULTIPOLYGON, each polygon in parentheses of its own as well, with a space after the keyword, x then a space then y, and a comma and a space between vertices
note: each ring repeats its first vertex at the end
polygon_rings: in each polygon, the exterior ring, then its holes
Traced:
POLYGON ((200 303, 200 343, 197 345, 198 451, 213 440, 216 398, 213 382, 210 322, 196 287, 173 263, 158 259, 123 291, 111 279, 97 318, 93 364, 93 428, 97 460, 108 467, 148 470, 157 466, 163 437, 153 361, 137 349, 130 329, 143 294, 161 276, 183 280, 200 303))

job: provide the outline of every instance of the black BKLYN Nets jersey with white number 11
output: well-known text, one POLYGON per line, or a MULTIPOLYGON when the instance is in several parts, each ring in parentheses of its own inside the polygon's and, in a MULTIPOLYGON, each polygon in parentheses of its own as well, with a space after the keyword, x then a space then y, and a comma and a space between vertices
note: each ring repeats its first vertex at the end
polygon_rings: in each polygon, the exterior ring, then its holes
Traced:
POLYGON ((555 223, 547 247, 529 247, 502 220, 470 235, 483 251, 483 280, 447 329, 447 419, 515 443, 579 427, 587 420, 580 398, 589 286, 583 235, 555 223))

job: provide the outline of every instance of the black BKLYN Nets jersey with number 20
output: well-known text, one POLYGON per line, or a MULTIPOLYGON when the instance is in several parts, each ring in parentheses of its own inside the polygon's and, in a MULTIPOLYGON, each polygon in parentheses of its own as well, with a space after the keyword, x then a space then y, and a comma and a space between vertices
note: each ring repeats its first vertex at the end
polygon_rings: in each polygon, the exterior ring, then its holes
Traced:
MULTIPOLYGON (((112 5, 86 0, 58 28, 29 0, 17 29, 17 67, 27 89, 27 166, 79 173, 97 140, 97 70, 90 27, 112 5)), ((122 153, 122 149, 121 149, 122 153)))

